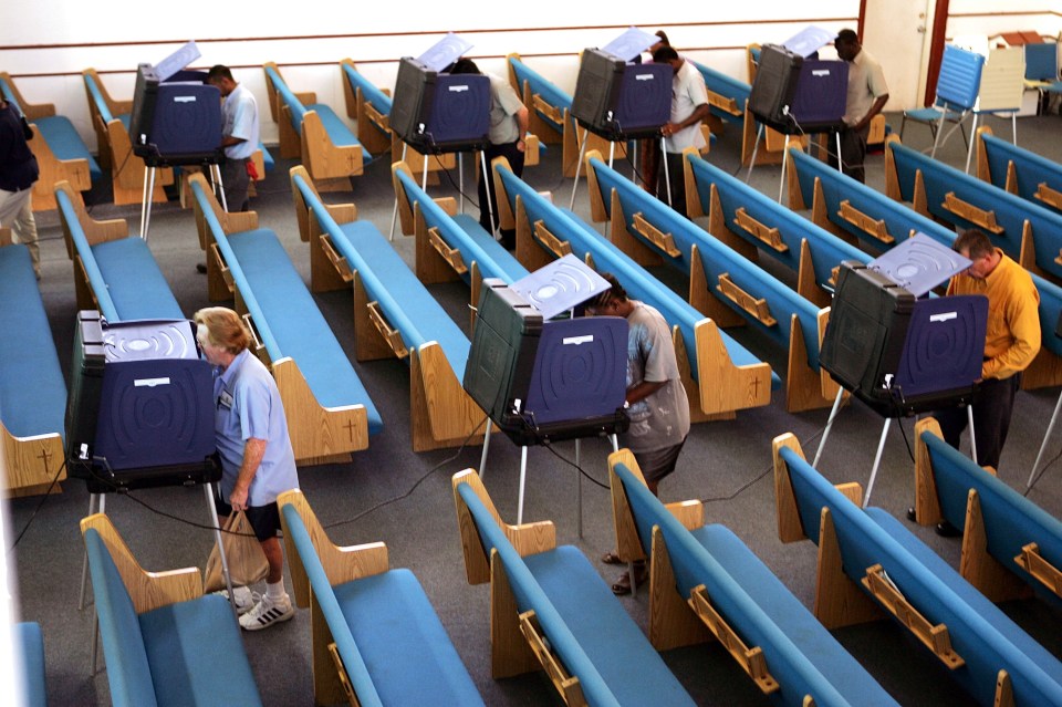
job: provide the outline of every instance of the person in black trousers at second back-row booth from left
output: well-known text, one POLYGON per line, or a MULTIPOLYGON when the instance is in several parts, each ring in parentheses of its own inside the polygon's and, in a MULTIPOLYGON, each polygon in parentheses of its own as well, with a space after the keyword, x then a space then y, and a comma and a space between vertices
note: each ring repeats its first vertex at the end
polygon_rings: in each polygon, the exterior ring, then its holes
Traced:
MULTIPOLYGON (((459 59, 450 67, 451 74, 481 74, 479 66, 470 59, 459 59)), ((485 74, 490 79, 490 133, 489 143, 483 149, 487 158, 487 169, 496 157, 509 160, 512 174, 523 176, 523 159, 528 145, 524 136, 528 134, 530 114, 528 106, 517 95, 509 82, 493 74, 485 74)), ((479 169, 477 169, 479 171, 479 169)), ((498 200, 494 196, 494 180, 492 177, 483 180, 479 177, 479 225, 490 233, 498 227, 498 200)), ((516 229, 502 229, 501 245, 507 250, 517 247, 516 229)))

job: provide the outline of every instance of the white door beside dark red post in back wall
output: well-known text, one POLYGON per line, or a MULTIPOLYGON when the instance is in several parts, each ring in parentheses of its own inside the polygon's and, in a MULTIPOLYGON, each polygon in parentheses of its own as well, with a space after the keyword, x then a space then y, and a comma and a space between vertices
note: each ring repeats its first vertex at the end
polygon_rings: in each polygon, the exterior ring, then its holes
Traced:
POLYGON ((922 107, 935 0, 866 0, 863 46, 885 72, 886 111, 922 107))

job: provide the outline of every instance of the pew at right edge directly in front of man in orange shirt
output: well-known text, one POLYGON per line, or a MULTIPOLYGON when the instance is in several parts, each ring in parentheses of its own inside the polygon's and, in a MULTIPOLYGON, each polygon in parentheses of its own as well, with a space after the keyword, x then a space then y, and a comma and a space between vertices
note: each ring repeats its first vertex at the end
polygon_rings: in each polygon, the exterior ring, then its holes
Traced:
POLYGON ((915 513, 964 529, 959 571, 993 602, 1032 586, 1062 606, 1062 523, 944 441, 931 417, 915 425, 915 513))

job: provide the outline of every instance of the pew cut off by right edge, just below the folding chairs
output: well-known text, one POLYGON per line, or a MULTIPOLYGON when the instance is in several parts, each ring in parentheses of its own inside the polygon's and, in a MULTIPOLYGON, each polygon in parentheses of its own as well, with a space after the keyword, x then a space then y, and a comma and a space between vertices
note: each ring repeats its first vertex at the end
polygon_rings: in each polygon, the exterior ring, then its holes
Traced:
POLYGON ((977 176, 1000 189, 1062 214, 1062 165, 977 128, 977 176))

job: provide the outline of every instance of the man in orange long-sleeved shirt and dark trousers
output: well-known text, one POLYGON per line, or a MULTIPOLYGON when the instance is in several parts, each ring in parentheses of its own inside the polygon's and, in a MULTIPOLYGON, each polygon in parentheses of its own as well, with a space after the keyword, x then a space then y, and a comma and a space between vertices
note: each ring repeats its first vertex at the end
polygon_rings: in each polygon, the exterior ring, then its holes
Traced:
MULTIPOLYGON (((988 327, 981 385, 974 403, 974 437, 977 462, 999 468, 1007 441, 1014 394, 1021 372, 1040 351, 1040 293, 1029 272, 992 246, 982 231, 971 229, 955 239, 955 250, 972 264, 951 278, 948 294, 983 294, 988 298, 988 327)), ((959 448, 967 426, 965 407, 938 410, 945 441, 959 448)))

